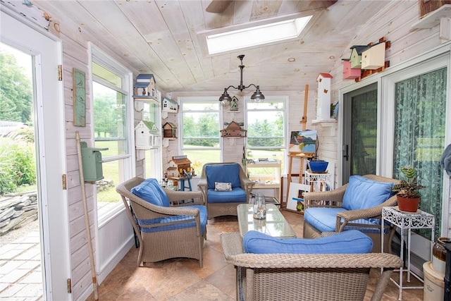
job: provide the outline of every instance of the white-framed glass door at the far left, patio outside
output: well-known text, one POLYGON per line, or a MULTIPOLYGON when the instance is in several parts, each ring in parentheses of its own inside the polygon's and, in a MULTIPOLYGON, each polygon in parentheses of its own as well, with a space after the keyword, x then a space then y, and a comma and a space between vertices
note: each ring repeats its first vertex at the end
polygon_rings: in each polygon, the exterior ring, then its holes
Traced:
MULTIPOLYGON (((2 111, 4 115, 0 119, 22 124, 22 129, 14 130, 14 133, 8 133, 6 137, 1 135, 0 146, 4 145, 4 139, 8 139, 13 145, 20 143, 20 150, 29 150, 26 157, 14 156, 15 161, 6 166, 26 166, 15 175, 16 180, 20 179, 17 185, 20 187, 34 183, 25 191, 35 190, 34 203, 38 217, 37 225, 33 228, 36 235, 32 240, 18 240, 18 245, 11 248, 11 252, 1 253, 9 260, 16 258, 15 252, 20 252, 18 257, 30 259, 31 262, 8 265, 11 273, 6 274, 4 280, 9 279, 14 285, 6 288, 0 285, 0 298, 5 296, 8 300, 69 300, 70 295, 66 288, 67 279, 70 278, 68 199, 66 190, 63 190, 61 185, 61 178, 66 174, 66 128, 64 102, 61 99, 63 83, 58 81, 57 76, 58 65, 62 61, 61 43, 35 30, 32 25, 20 22, 23 18, 15 18, 16 13, 1 9, 0 15, 0 42, 3 49, 1 55, 8 58, 2 59, 0 64, 10 71, 8 73, 2 70, 0 73, 0 107, 7 108, 2 111), (4 53, 6 48, 14 55, 4 53), (12 59, 13 57, 15 59, 12 59), (15 67, 11 69, 11 65, 15 67), (32 176, 35 177, 34 180, 32 176), (28 179, 25 181, 25 178, 28 179), (24 247, 30 247, 30 242, 37 245, 37 248, 29 252, 23 250, 24 247), (30 269, 28 274, 20 274, 27 269, 30 269)), ((13 146, 6 151, 11 151, 12 148, 13 146)), ((2 170, 4 169, 0 168, 0 171, 2 170)), ((23 211, 32 211, 28 207, 31 204, 26 203, 23 211)), ((20 211, 16 208, 14 210, 20 211)), ((24 212, 21 216, 26 214, 24 212)), ((16 219, 21 216, 16 216, 16 219)), ((32 233, 28 229, 22 232, 23 235, 32 233)), ((3 237, 1 240, 3 241, 3 237)), ((0 261, 3 259, 2 257, 0 261)), ((3 264, 0 271, 3 272, 5 266, 3 264)))

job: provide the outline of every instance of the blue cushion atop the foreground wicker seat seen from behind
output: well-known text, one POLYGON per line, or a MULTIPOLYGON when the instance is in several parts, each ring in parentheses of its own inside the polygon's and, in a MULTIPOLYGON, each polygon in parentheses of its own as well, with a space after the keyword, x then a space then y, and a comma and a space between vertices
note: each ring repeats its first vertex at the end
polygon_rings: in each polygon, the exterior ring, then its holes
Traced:
POLYGON ((243 237, 243 247, 254 254, 358 254, 371 252, 373 240, 356 230, 323 238, 273 238, 249 231, 243 237))

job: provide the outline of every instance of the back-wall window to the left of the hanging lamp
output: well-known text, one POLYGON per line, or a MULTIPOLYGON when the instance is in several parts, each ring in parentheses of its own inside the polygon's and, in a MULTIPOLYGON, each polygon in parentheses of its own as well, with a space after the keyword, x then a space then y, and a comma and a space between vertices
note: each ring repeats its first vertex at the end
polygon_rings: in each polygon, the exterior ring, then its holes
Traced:
POLYGON ((221 161, 221 118, 217 98, 180 97, 180 147, 197 174, 208 162, 221 161))

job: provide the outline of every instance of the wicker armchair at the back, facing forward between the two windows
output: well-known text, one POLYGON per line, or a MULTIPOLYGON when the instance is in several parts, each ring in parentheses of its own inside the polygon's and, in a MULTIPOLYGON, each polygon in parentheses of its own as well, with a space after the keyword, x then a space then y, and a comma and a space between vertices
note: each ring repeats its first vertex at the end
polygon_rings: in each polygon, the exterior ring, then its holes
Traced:
MULTIPOLYGON (((225 178, 230 178, 230 174, 222 174, 219 178, 220 182, 223 181, 225 178)), ((197 186, 199 187, 199 190, 202 191, 202 194, 204 195, 204 199, 206 200, 206 207, 209 212, 209 219, 216 216, 225 216, 225 215, 234 215, 237 216, 237 205, 243 204, 249 202, 250 192, 252 190, 252 186, 254 186, 254 181, 249 180, 247 178, 245 171, 243 171, 240 164, 237 164, 235 162, 228 162, 228 163, 206 163, 202 167, 202 174, 201 178, 199 180, 199 183, 197 186), (207 166, 225 166, 225 165, 237 165, 240 180, 240 189, 244 191, 243 197, 237 202, 236 200, 231 202, 230 197, 228 196, 228 192, 220 192, 223 194, 223 200, 221 202, 209 202, 209 190, 214 190, 214 179, 207 178, 207 172, 206 168, 207 166), (213 183, 213 187, 211 187, 211 182, 213 183)), ((233 188, 235 190, 235 188, 233 188)))

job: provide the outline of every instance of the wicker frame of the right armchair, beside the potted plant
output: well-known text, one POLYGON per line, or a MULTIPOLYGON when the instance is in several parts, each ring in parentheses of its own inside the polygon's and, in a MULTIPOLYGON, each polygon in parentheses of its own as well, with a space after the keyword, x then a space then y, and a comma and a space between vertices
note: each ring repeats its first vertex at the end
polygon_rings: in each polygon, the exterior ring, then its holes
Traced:
MULTIPOLYGON (((365 178, 382 183, 399 183, 399 180, 376 175, 366 175, 365 178)), ((348 184, 335 190, 326 192, 304 193, 305 209, 311 207, 342 208, 343 196, 348 184)), ((381 252, 381 225, 379 223, 359 223, 364 219, 381 220, 382 207, 396 206, 396 196, 390 197, 382 204, 367 209, 345 210, 338 212, 335 221, 335 232, 345 231, 345 228, 357 228, 373 240, 373 252, 381 252)), ((384 234, 384 252, 391 253, 391 241, 395 235, 395 228, 386 226, 384 234)), ((321 231, 316 229, 304 219, 304 238, 319 238, 321 231)))

